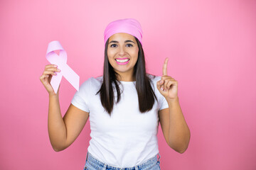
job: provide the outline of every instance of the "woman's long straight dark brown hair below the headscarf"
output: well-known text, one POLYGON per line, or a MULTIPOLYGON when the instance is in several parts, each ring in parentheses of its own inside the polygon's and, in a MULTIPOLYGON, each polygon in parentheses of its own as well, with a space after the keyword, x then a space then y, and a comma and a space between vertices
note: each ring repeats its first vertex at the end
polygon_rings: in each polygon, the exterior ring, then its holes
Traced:
MULTIPOLYGON (((135 37, 134 37, 135 38, 135 37)), ((136 77, 136 89, 138 94, 139 101, 139 111, 141 113, 145 113, 146 111, 150 111, 154 106, 154 98, 156 95, 151 87, 151 79, 146 74, 145 67, 145 58, 144 51, 142 49, 142 44, 139 42, 137 38, 135 38, 139 47, 138 52, 138 60, 134 65, 134 73, 133 77, 136 77)), ((111 112, 114 106, 114 91, 112 87, 112 82, 114 82, 115 89, 117 91, 117 102, 120 101, 120 89, 118 84, 121 84, 120 81, 117 80, 117 72, 114 72, 113 67, 107 58, 107 47, 109 40, 107 40, 105 44, 105 59, 104 59, 104 72, 103 72, 103 82, 100 90, 97 91, 97 94, 100 93, 100 101, 102 106, 105 108, 107 113, 111 116, 111 112)), ((156 98, 157 101, 157 98, 156 98)))

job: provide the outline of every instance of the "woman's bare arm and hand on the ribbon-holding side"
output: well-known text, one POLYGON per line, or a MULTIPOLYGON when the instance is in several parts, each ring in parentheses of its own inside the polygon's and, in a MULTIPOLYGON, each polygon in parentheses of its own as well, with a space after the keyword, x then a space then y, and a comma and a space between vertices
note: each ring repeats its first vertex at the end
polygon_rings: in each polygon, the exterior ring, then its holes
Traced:
POLYGON ((69 147, 75 141, 85 126, 89 113, 70 104, 68 111, 62 118, 58 92, 55 94, 50 85, 50 79, 56 75, 55 72, 60 72, 55 65, 46 65, 40 80, 49 94, 48 134, 50 144, 58 152, 69 147))

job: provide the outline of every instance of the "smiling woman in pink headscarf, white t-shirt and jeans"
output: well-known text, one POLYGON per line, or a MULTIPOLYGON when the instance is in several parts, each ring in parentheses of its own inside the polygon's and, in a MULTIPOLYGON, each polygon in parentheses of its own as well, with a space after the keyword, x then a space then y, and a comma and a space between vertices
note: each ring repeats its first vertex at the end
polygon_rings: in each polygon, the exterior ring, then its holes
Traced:
POLYGON ((113 21, 105 29, 103 76, 91 77, 80 86, 63 118, 58 92, 50 86, 50 78, 60 70, 47 65, 41 81, 49 93, 53 149, 58 152, 70 146, 90 116, 92 139, 84 169, 160 169, 159 121, 169 147, 185 152, 190 130, 178 103, 178 83, 167 75, 167 62, 168 58, 162 77, 146 74, 139 22, 113 21))

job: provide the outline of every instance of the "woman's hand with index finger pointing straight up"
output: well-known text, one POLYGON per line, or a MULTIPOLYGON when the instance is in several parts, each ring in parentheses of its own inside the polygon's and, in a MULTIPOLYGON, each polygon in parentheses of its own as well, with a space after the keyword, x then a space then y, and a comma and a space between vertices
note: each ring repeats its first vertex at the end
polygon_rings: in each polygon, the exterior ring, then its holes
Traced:
POLYGON ((164 60, 163 76, 156 82, 160 94, 166 98, 166 101, 174 101, 178 98, 178 81, 167 75, 167 63, 169 58, 164 60))

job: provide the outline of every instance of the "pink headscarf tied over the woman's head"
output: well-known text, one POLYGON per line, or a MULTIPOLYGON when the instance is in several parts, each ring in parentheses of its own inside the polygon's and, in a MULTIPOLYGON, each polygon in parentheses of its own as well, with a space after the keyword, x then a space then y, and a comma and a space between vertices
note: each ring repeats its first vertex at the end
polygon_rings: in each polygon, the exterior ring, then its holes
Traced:
POLYGON ((129 33, 130 35, 134 35, 142 44, 142 26, 139 24, 139 21, 133 18, 120 19, 109 23, 104 31, 105 44, 107 39, 115 33, 129 33))

